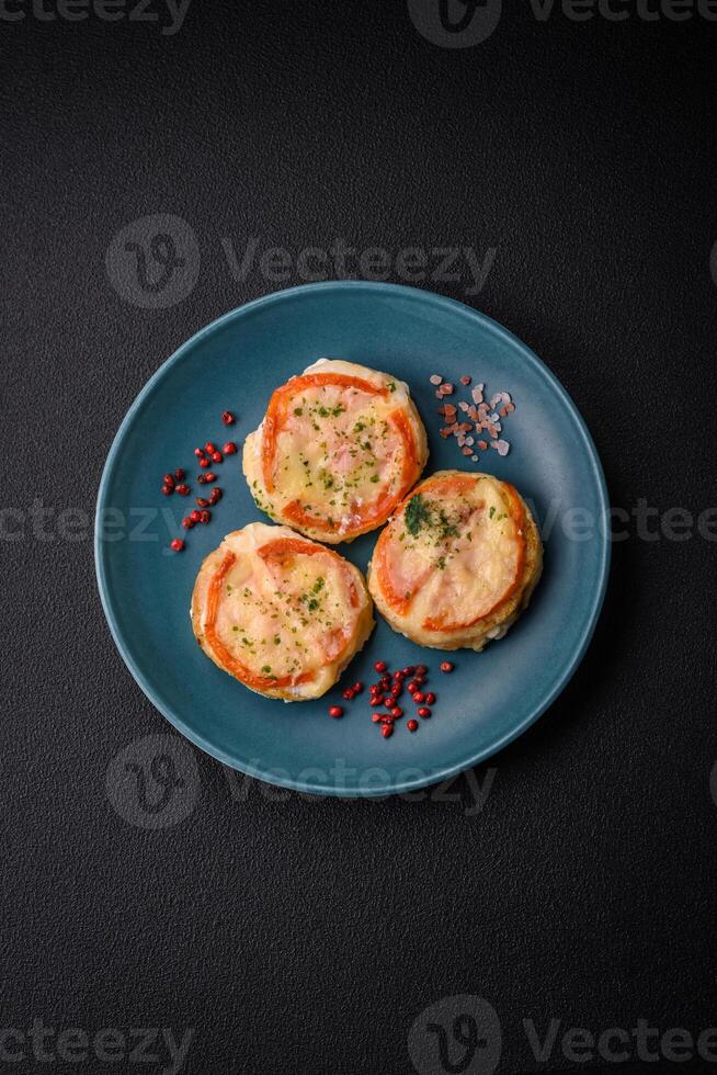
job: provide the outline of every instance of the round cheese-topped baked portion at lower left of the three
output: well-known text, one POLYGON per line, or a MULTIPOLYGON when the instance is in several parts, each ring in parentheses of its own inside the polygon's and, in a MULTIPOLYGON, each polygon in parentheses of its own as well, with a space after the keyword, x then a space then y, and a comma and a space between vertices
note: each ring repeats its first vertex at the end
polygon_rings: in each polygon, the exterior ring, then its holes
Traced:
POLYGON ((333 687, 374 627, 361 572, 286 527, 252 522, 206 557, 192 627, 207 657, 266 698, 333 687))

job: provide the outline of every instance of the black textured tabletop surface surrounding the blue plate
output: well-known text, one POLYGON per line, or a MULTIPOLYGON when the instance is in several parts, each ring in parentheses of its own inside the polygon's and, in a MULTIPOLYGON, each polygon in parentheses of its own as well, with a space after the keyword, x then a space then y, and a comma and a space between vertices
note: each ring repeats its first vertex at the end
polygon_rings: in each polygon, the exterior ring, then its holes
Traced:
POLYGON ((425 41, 402 0, 193 0, 174 36, 0 21, 1 499, 22 512, 0 542, 2 1027, 191 1026, 185 1071, 402 1075, 413 1020, 453 994, 496 1008, 500 1072, 578 1067, 559 1046, 538 1064, 523 1019, 717 1023, 717 544, 628 524, 588 656, 492 760, 481 812, 465 778, 448 801, 309 802, 192 750, 196 803, 151 830, 114 808, 107 769, 178 737, 112 644, 91 525, 70 541, 57 523, 92 511, 162 360, 280 286, 232 279, 221 239, 250 235, 494 247, 467 301, 560 377, 612 502, 714 505, 716 47, 697 15, 539 22, 526 3, 465 49, 425 41), (201 251, 191 295, 160 310, 104 268, 150 213, 201 251))

